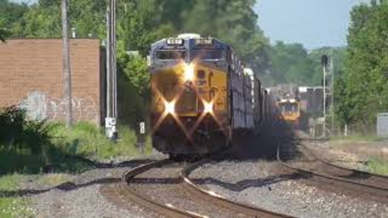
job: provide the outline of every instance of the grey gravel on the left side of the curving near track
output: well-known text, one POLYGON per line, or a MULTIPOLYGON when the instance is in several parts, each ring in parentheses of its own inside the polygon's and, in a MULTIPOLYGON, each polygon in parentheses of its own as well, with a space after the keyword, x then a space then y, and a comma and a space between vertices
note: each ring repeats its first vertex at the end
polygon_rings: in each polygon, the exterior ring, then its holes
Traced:
MULTIPOLYGON (((161 158, 165 156, 146 159, 161 158)), ((24 182, 20 190, 28 192, 25 196, 30 197, 37 217, 161 217, 124 199, 116 188, 126 170, 144 162, 102 164, 80 175, 66 175, 68 182, 54 187, 42 179, 30 180, 24 182)))

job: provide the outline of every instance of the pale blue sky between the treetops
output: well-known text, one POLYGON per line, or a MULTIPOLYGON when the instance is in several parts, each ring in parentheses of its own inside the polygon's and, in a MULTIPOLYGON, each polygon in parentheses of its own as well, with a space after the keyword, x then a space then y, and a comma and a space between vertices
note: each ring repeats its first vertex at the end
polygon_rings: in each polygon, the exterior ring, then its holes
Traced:
POLYGON ((258 0, 258 24, 271 43, 301 43, 311 50, 346 45, 354 5, 369 0, 258 0))

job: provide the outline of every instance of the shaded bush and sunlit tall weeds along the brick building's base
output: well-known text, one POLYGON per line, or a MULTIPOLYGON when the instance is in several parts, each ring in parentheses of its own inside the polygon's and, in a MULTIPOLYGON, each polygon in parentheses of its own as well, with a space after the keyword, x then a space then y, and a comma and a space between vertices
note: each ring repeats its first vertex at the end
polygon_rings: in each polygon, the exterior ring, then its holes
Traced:
MULTIPOLYGON (((102 128, 92 123, 47 123, 26 118, 17 108, 0 111, 0 175, 13 172, 80 172, 90 161, 138 154, 136 135, 128 127, 119 128, 120 139, 111 142, 102 128)), ((151 152, 148 143, 146 152, 151 152)))

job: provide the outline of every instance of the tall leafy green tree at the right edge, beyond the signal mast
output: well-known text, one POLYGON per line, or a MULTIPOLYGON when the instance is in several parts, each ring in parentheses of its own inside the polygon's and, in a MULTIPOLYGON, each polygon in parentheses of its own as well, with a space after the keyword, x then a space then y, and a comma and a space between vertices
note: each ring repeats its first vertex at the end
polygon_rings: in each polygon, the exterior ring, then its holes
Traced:
POLYGON ((338 81, 337 112, 342 124, 360 133, 374 129, 376 114, 388 109, 388 5, 374 2, 355 6, 345 72, 338 81))

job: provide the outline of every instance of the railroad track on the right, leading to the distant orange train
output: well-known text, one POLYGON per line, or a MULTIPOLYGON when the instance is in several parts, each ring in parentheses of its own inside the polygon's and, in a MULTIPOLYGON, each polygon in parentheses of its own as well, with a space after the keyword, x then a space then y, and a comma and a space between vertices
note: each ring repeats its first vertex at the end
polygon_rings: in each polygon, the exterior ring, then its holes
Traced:
POLYGON ((301 148, 307 160, 284 162, 278 149, 278 161, 282 166, 298 171, 305 178, 317 178, 320 182, 341 187, 350 194, 388 202, 388 176, 338 166, 317 157, 305 145, 301 148))

